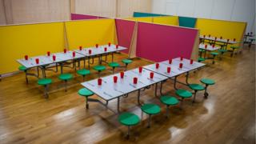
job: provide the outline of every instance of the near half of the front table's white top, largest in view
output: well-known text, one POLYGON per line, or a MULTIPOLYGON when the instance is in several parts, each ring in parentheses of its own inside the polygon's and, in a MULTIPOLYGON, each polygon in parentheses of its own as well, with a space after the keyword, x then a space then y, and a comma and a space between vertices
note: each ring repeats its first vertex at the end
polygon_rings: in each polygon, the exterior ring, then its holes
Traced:
POLYGON ((124 72, 124 78, 120 78, 118 73, 102 78, 101 86, 98 86, 98 79, 83 82, 82 86, 93 91, 104 100, 111 100, 167 79, 167 77, 157 73, 154 73, 154 78, 151 79, 150 72, 150 70, 142 69, 142 74, 139 74, 138 69, 128 70, 124 72), (117 83, 114 83, 114 76, 118 76, 117 83), (134 77, 138 78, 137 84, 134 84, 134 77))

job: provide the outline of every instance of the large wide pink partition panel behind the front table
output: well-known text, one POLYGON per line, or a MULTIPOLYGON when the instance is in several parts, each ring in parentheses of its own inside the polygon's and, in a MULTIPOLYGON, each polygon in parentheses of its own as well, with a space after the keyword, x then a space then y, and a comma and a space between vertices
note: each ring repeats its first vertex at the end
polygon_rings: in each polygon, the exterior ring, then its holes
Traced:
POLYGON ((154 62, 190 58, 198 30, 138 22, 136 55, 154 62))

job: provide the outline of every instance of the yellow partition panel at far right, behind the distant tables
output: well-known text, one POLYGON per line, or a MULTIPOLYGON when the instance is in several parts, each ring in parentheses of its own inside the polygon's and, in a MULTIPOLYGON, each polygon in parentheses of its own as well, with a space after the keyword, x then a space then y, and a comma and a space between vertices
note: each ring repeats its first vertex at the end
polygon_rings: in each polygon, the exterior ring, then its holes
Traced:
POLYGON ((242 42, 246 30, 246 22, 229 22, 198 18, 195 27, 200 30, 200 35, 210 34, 213 37, 219 38, 222 36, 230 40, 236 38, 237 42, 242 42))

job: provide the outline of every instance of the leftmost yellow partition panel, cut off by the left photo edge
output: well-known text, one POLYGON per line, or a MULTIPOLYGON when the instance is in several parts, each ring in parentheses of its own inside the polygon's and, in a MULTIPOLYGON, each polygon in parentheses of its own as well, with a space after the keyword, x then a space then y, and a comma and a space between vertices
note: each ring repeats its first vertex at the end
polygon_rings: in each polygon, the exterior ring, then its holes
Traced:
POLYGON ((63 50, 64 23, 0 26, 0 74, 18 70, 16 59, 63 50))

